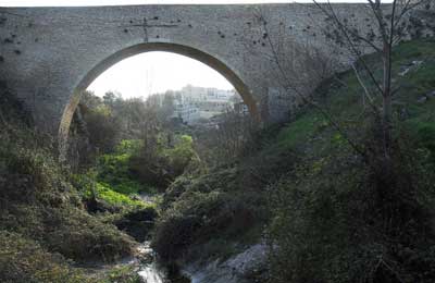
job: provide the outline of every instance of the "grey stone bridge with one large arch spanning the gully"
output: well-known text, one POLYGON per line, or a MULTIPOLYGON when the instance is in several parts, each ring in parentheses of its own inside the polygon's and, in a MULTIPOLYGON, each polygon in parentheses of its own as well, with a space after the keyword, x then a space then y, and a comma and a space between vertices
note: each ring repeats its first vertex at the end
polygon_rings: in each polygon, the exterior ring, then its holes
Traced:
MULTIPOLYGON (((369 22, 364 4, 335 8, 361 26, 369 22)), ((277 79, 274 44, 291 60, 315 47, 348 62, 322 38, 325 24, 312 4, 295 3, 0 8, 0 79, 39 128, 66 140, 80 93, 98 75, 127 57, 170 51, 220 72, 256 119, 274 122, 297 103, 277 79)))

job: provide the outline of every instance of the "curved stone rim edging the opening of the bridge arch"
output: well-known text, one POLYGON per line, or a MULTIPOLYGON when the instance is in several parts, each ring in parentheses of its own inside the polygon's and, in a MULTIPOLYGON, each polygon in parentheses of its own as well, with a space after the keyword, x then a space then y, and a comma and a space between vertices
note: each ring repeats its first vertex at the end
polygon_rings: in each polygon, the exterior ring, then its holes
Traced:
POLYGON ((204 63, 206 65, 212 67, 221 75, 223 75, 237 90, 237 93, 243 98, 244 102, 248 106, 249 113, 253 119, 260 121, 261 116, 258 110, 257 101, 253 98, 251 90, 241 81, 239 75, 236 74, 226 63, 222 60, 213 57, 204 51, 197 48, 188 47, 185 45, 173 44, 173 42, 144 42, 127 47, 122 49, 109 58, 104 59, 97 65, 95 65, 78 83, 71 95, 70 101, 65 106, 62 114, 62 119, 59 126, 58 137, 59 137, 59 150, 61 157, 65 155, 67 149, 67 139, 70 125, 74 115, 74 112, 80 100, 80 96, 84 90, 105 70, 116 64, 117 62, 129 58, 132 56, 150 52, 150 51, 166 51, 172 53, 182 54, 197 61, 204 63))

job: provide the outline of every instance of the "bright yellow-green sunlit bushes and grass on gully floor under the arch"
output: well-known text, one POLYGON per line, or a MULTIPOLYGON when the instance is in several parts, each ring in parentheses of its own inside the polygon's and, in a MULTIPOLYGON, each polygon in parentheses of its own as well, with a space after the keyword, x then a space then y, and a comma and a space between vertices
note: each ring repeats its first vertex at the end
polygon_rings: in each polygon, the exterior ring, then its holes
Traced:
POLYGON ((122 140, 114 152, 98 157, 96 168, 88 169, 86 174, 74 175, 73 180, 80 187, 83 197, 96 197, 114 207, 145 207, 146 204, 138 200, 137 195, 157 195, 158 190, 147 183, 160 176, 159 173, 149 172, 148 165, 164 165, 167 170, 171 170, 178 175, 196 155, 192 139, 187 135, 179 136, 174 147, 157 150, 157 157, 151 162, 145 159, 142 150, 144 144, 140 140, 122 140))

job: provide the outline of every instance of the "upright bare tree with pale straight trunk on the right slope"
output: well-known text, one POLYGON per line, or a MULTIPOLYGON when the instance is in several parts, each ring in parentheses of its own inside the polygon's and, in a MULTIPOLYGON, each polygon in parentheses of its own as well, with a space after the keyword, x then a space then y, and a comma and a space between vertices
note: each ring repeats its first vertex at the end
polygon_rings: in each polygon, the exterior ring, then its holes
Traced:
POLYGON ((393 47, 407 38, 410 12, 419 7, 430 4, 430 0, 393 0, 383 4, 381 0, 368 0, 365 9, 374 28, 362 30, 350 23, 347 17, 337 13, 334 5, 327 1, 315 7, 322 11, 327 21, 333 25, 333 32, 324 30, 336 44, 353 57, 352 69, 359 84, 363 88, 364 101, 377 118, 382 130, 382 149, 384 169, 389 171, 391 157, 393 131, 393 47), (364 54, 376 52, 382 58, 383 76, 378 78, 364 59, 364 54), (381 98, 381 99, 378 99, 381 98), (381 101, 381 102, 377 102, 381 101))

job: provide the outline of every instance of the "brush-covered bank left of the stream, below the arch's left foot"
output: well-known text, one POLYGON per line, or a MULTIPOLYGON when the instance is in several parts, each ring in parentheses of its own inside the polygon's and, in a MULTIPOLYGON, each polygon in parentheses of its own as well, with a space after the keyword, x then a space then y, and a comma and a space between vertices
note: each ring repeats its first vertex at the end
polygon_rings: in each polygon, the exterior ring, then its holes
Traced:
POLYGON ((0 90, 0 281, 109 282, 85 275, 73 260, 112 261, 133 253, 134 241, 87 213, 49 143, 0 90))

